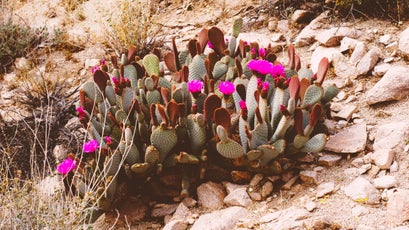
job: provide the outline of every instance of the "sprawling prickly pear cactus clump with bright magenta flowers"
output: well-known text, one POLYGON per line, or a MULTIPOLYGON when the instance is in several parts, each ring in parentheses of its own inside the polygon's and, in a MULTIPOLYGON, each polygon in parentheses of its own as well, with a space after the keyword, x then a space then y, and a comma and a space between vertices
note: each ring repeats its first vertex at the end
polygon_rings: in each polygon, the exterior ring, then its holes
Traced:
POLYGON ((323 149, 322 121, 338 93, 322 87, 328 60, 314 74, 289 45, 284 67, 270 47, 238 41, 241 27, 236 19, 228 39, 203 29, 182 51, 173 39, 165 55, 140 58, 131 47, 93 73, 80 90, 80 121, 99 146, 82 153, 80 194, 95 191, 109 210, 121 182, 177 172, 184 197, 192 171, 203 178, 209 165, 228 165, 239 181, 241 171, 280 174, 292 156, 323 149))

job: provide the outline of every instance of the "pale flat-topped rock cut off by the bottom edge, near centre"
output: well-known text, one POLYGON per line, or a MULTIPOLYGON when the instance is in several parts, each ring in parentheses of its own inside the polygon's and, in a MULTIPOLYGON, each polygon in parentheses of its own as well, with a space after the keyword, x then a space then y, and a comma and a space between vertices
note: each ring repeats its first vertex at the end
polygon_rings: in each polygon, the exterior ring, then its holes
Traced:
POLYGON ((191 230, 202 229, 235 229, 240 218, 251 215, 243 207, 233 206, 226 209, 204 214, 196 220, 191 230))

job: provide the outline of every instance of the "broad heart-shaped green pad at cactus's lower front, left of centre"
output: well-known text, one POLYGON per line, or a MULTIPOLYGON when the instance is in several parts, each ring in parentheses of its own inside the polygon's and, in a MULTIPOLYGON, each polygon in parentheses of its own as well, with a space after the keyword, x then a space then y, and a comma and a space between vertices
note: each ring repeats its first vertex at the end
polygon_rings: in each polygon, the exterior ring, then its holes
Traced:
POLYGON ((156 128, 151 134, 151 144, 158 149, 160 153, 160 163, 165 160, 169 152, 177 144, 177 135, 174 129, 156 128))

